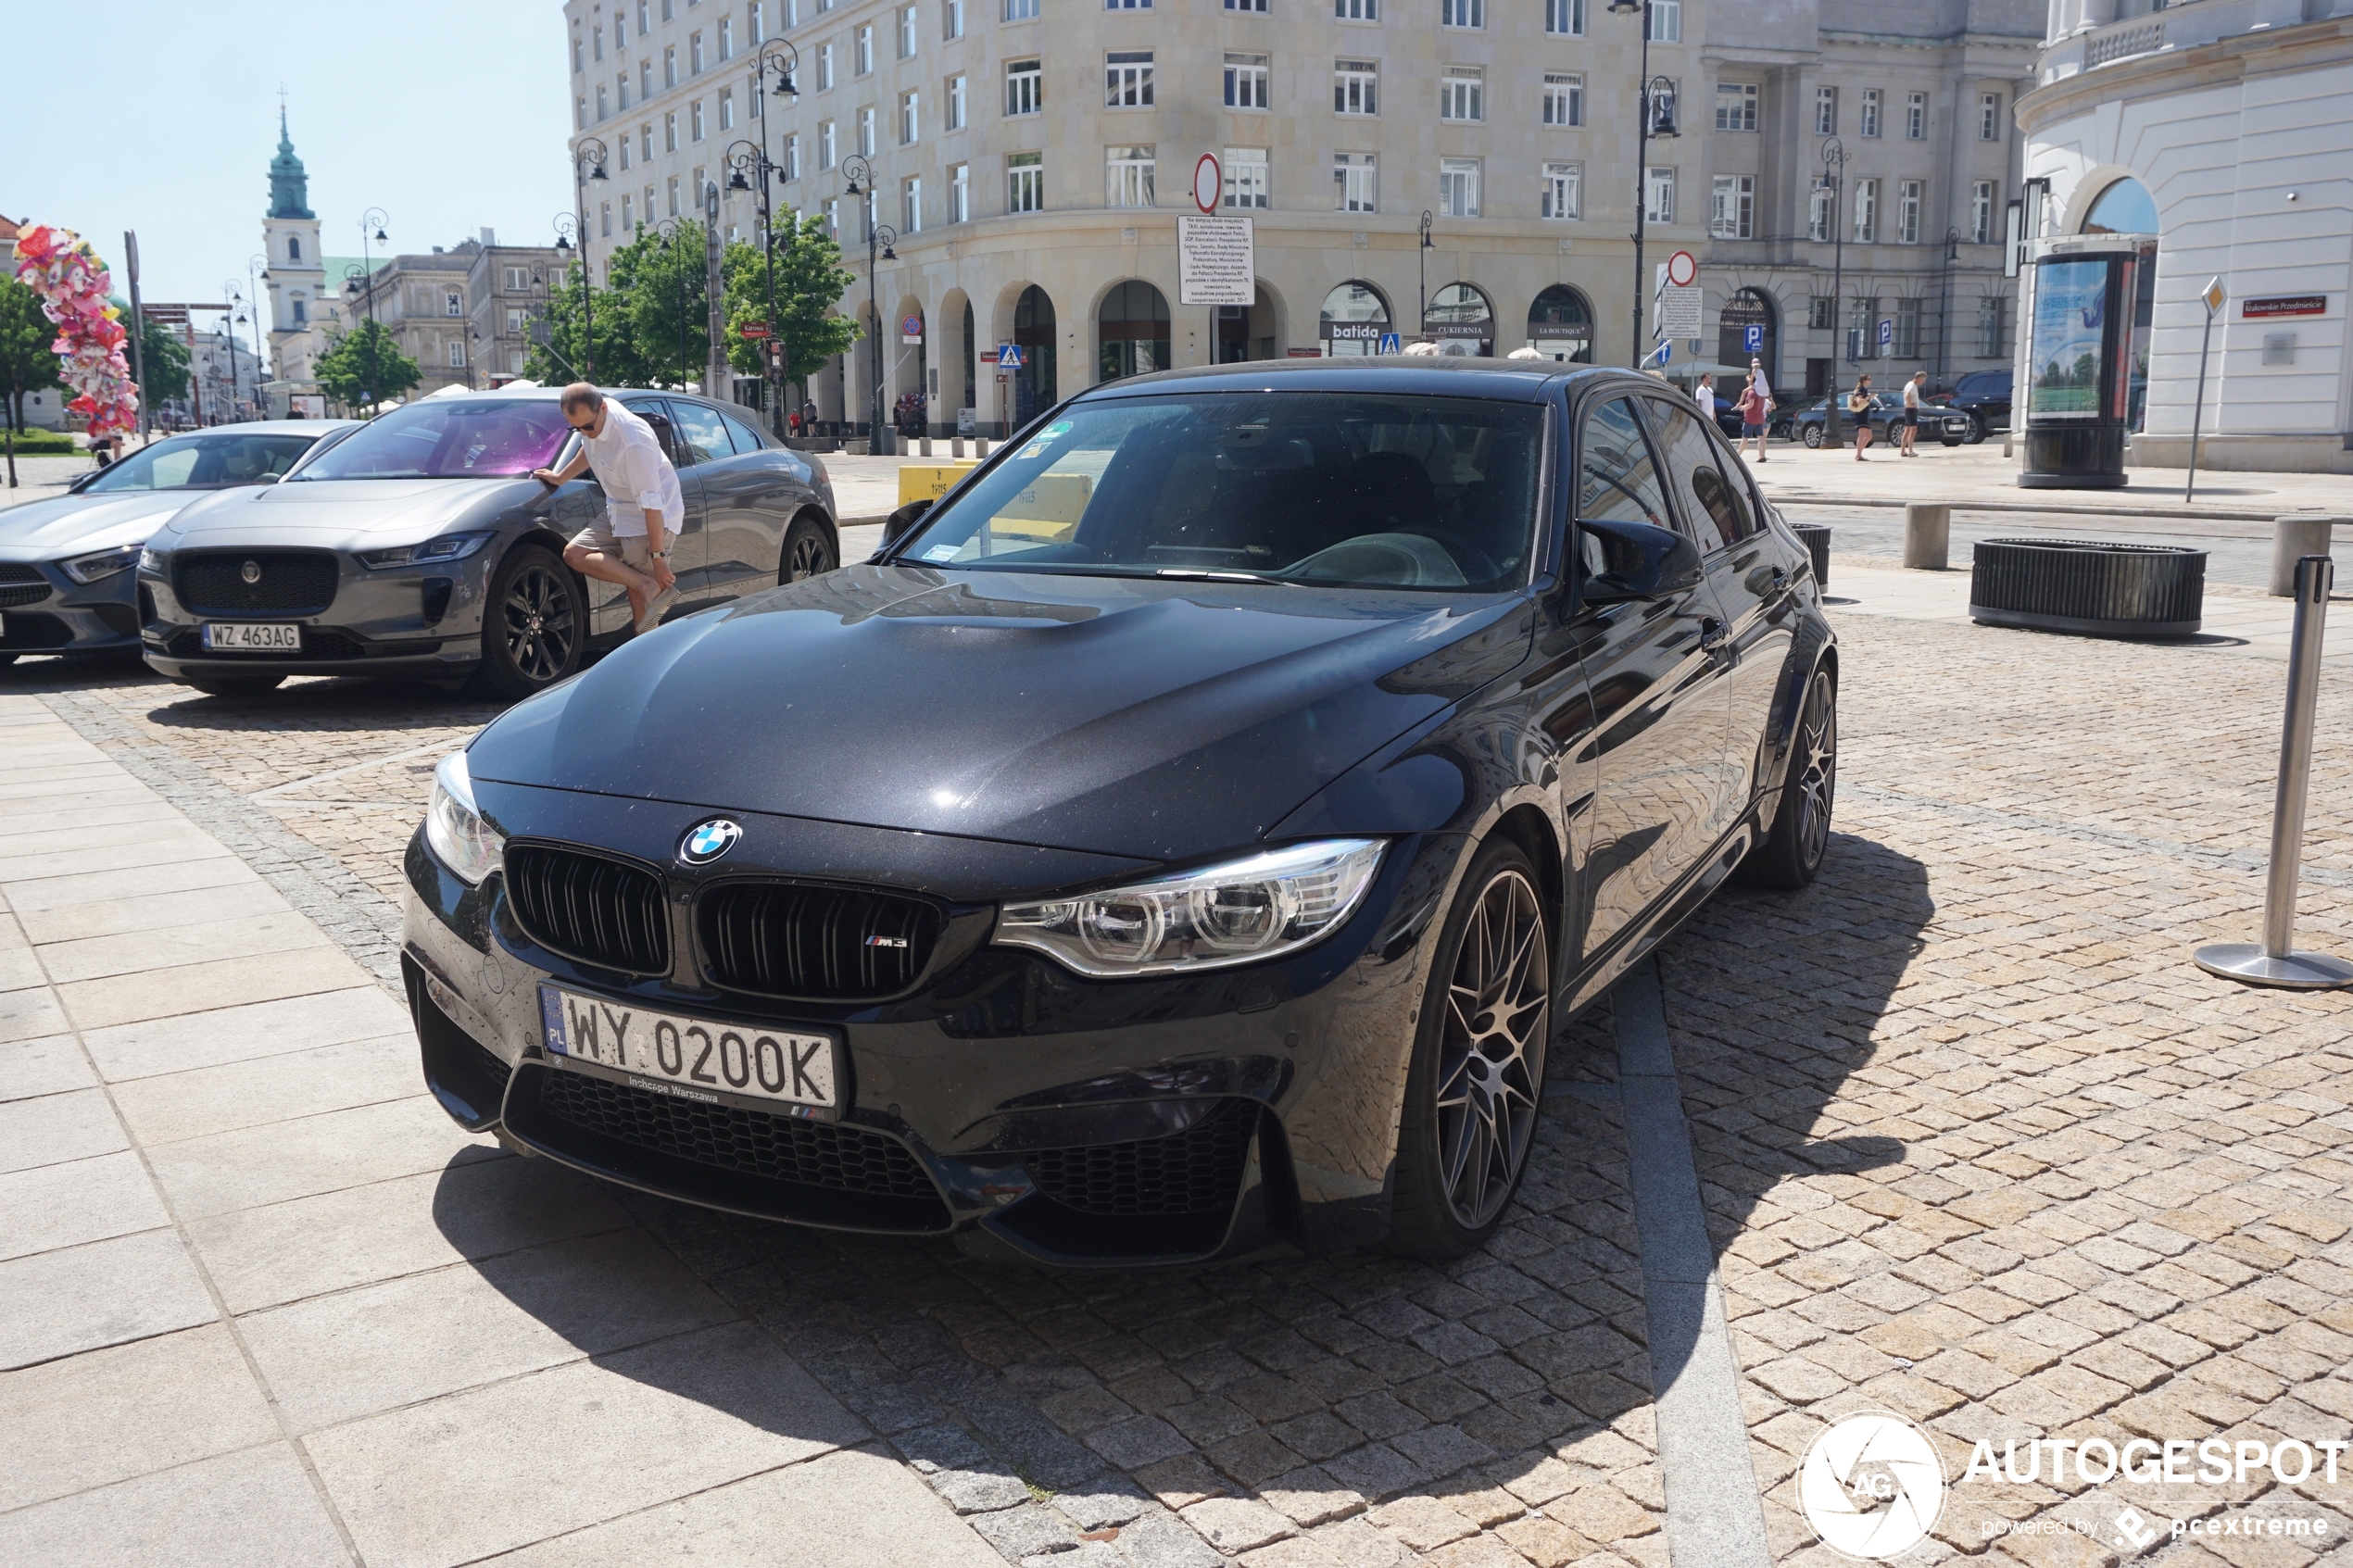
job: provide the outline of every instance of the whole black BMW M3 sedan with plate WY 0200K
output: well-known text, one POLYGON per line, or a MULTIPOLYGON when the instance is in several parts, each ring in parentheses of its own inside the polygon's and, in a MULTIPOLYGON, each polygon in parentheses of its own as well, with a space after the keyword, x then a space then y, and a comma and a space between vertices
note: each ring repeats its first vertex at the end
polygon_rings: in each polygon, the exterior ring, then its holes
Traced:
POLYGON ((1558 1027, 1828 846, 1805 545, 1654 378, 1094 388, 866 564, 442 759, 407 851, 468 1128, 1049 1265, 1480 1246, 1558 1027))

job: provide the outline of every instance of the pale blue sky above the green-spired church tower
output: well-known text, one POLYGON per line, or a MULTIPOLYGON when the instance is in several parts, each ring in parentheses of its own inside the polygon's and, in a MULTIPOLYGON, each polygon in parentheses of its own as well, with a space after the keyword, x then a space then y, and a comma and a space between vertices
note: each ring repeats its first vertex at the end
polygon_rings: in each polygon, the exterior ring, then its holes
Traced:
POLYGON ((80 230, 139 292, 219 301, 261 249, 278 87, 329 256, 381 207, 393 249, 478 228, 553 244, 569 207, 569 87, 558 0, 402 5, 0 0, 0 212, 80 230))

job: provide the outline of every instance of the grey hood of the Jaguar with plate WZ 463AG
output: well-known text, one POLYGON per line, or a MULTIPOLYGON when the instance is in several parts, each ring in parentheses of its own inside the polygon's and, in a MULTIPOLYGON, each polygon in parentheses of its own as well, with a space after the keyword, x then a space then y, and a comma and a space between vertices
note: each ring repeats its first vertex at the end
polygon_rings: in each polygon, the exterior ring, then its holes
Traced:
POLYGON ((174 550, 304 543, 327 550, 431 538, 518 505, 548 505, 532 477, 296 480, 214 491, 172 522, 174 550))

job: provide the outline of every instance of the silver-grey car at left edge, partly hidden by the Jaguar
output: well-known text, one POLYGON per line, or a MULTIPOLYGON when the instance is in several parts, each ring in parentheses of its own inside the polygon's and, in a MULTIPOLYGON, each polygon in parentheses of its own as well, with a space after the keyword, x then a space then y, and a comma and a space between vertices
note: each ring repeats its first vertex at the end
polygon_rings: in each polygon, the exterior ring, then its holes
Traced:
POLYGON ((21 654, 136 654, 132 567, 148 536, 212 491, 275 484, 348 418, 266 418, 151 442, 0 510, 0 665, 21 654))

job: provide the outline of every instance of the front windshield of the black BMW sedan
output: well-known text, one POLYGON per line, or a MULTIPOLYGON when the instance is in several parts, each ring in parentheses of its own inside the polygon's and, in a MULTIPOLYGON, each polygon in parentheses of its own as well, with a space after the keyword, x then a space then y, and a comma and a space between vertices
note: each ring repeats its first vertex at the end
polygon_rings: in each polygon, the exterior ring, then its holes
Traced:
POLYGON ((1541 442, 1541 407, 1473 397, 1082 402, 896 559, 1485 592, 1527 576, 1541 442))

